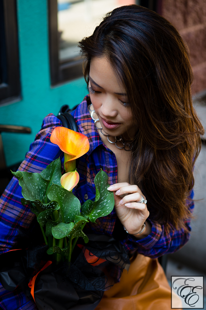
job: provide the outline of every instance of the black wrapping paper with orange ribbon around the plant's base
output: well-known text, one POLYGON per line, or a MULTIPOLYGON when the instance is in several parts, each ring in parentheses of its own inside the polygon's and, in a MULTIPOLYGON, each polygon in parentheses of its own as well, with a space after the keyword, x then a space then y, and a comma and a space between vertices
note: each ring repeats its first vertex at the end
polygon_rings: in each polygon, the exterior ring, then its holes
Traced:
POLYGON ((71 263, 55 264, 48 246, 17 249, 0 255, 0 281, 6 290, 19 285, 39 310, 93 310, 103 292, 129 268, 129 258, 113 237, 88 234, 79 238, 71 263), (36 276, 36 277, 35 277, 36 276))

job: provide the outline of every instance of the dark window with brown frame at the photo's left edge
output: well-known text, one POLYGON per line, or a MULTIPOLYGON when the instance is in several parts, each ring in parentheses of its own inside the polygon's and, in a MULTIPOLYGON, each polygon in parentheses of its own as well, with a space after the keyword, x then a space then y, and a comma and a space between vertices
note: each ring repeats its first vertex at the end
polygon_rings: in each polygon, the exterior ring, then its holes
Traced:
POLYGON ((0 106, 21 100, 16 0, 0 0, 0 106))

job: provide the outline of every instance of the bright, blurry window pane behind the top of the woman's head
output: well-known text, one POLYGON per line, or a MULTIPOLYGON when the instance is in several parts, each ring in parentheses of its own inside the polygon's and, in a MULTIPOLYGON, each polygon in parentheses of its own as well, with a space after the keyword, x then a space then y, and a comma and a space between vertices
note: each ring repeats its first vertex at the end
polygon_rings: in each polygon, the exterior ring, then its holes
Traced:
POLYGON ((90 36, 107 12, 134 3, 135 0, 58 0, 59 60, 78 56, 77 42, 90 36))

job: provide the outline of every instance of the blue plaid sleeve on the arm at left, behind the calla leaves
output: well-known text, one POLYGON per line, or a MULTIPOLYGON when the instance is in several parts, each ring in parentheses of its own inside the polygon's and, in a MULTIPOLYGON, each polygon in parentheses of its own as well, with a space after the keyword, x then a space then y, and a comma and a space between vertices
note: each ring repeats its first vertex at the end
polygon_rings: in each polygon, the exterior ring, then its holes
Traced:
MULTIPOLYGON (((29 152, 19 170, 40 173, 58 157, 63 164, 64 153, 57 145, 50 142, 50 135, 55 126, 61 126, 61 122, 53 114, 44 118, 41 130, 30 145, 29 152)), ((28 205, 21 204, 21 198, 21 187, 18 180, 13 177, 0 198, 0 253, 10 250, 15 245, 19 230, 27 229, 35 217, 28 205)), ((1 285, 0 305, 6 310, 36 309, 34 302, 25 296, 19 287, 10 292, 1 285)))

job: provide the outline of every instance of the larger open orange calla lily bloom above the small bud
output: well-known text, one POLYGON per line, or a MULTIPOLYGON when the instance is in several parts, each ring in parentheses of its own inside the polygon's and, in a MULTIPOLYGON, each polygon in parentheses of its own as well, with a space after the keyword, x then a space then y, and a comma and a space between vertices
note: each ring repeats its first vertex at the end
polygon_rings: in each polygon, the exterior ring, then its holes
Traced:
POLYGON ((50 141, 70 155, 67 161, 77 159, 89 151, 89 140, 85 135, 62 126, 54 128, 50 141))

